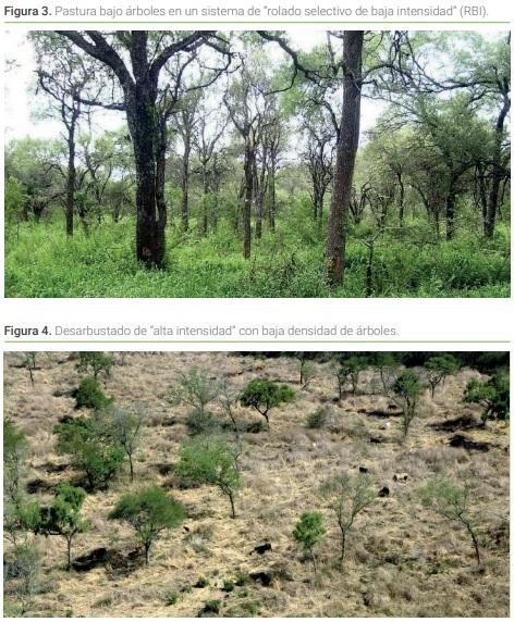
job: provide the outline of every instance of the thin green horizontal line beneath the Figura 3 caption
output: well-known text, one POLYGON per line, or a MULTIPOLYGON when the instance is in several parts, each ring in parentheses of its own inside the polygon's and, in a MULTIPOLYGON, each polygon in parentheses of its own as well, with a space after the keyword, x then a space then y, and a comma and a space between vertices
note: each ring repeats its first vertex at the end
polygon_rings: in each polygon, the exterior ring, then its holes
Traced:
POLYGON ((383 24, 384 22, 389 23, 389 24, 461 24, 461 25, 466 25, 466 24, 510 24, 511 22, 500 22, 500 21, 495 21, 495 22, 482 22, 482 21, 473 21, 473 22, 463 22, 461 20, 458 21, 454 21, 454 22, 441 22, 441 21, 426 21, 426 20, 420 20, 420 21, 396 21, 396 20, 377 20, 377 21, 363 21, 363 20, 358 20, 358 21, 336 21, 336 20, 317 20, 317 21, 296 21, 296 22, 291 22, 291 21, 281 21, 281 20, 268 20, 268 21, 262 21, 262 22, 252 22, 252 21, 245 21, 245 20, 237 20, 237 21, 231 21, 231 20, 223 20, 223 21, 198 21, 198 20, 163 20, 163 21, 159 21, 159 22, 145 22, 145 21, 140 21, 140 20, 132 20, 132 21, 121 21, 121 20, 96 20, 96 21, 84 21, 84 20, 77 20, 77 21, 68 21, 68 20, 57 20, 56 22, 52 22, 51 20, 45 20, 45 21, 7 21, 4 22, 4 24, 299 24, 299 25, 304 25, 304 24, 383 24))

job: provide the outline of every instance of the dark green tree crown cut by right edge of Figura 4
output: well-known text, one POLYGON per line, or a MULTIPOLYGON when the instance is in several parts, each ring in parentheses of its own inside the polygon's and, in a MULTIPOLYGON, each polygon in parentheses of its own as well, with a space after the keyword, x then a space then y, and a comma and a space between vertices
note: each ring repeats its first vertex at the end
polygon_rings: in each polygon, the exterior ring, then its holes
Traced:
POLYGON ((498 372, 485 382, 472 378, 464 390, 464 401, 482 406, 484 423, 491 416, 500 420, 509 419, 511 405, 509 374, 498 372))

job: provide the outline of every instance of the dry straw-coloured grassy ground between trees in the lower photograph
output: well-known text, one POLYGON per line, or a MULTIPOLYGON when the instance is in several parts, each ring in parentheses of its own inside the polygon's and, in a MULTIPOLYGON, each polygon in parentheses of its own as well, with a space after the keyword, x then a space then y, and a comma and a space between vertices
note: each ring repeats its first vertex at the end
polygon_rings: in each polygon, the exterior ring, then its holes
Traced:
MULTIPOLYGON (((66 458, 54 453, 52 426, 73 413, 69 391, 81 376, 68 353, 39 354, 33 387, 27 371, 15 366, 19 357, 7 354, 4 361, 4 415, 27 434, 29 488, 48 500, 56 484, 77 476, 66 458)), ((142 401, 148 412, 133 487, 158 483, 185 505, 188 518, 156 544, 148 567, 140 558, 128 563, 134 532, 107 520, 131 487, 127 474, 121 475, 108 492, 87 497, 84 513, 93 528, 76 537, 74 556, 107 547, 126 563, 66 572, 64 540, 37 536, 45 551, 45 584, 29 614, 195 617, 206 602, 219 601, 222 617, 509 615, 509 425, 492 421, 481 427, 479 407, 462 403, 466 383, 478 372, 464 369, 448 378, 433 400, 427 391, 402 445, 399 414, 374 393, 370 371, 363 373, 357 395, 338 400, 328 363, 315 363, 314 380, 301 389, 294 358, 227 352, 115 358, 110 377, 102 380, 105 391, 120 406, 142 401), (183 488, 173 474, 179 444, 187 434, 187 409, 170 406, 164 395, 178 374, 193 365, 227 377, 234 389, 268 377, 296 391, 293 403, 270 412, 269 432, 244 434, 235 520, 216 488, 183 488), (322 405, 330 409, 329 425, 309 428, 306 418, 322 405), (455 434, 474 448, 451 446, 455 434), (355 473, 360 467, 377 489, 387 486, 390 495, 357 518, 341 569, 336 523, 318 489, 328 475, 343 469, 355 473), (406 473, 407 480, 395 482, 395 473, 406 473), (480 572, 464 530, 419 502, 419 487, 435 473, 473 490, 485 560, 480 572), (307 510, 322 511, 328 526, 316 574, 292 538, 307 510), (262 543, 272 549, 258 555, 254 547, 262 543), (266 573, 270 585, 250 579, 256 572, 266 573), (223 590, 225 582, 236 585, 223 590)), ((241 407, 237 416, 261 421, 241 407)))

